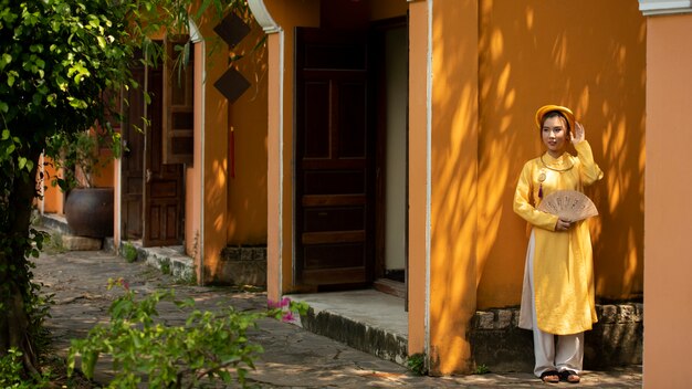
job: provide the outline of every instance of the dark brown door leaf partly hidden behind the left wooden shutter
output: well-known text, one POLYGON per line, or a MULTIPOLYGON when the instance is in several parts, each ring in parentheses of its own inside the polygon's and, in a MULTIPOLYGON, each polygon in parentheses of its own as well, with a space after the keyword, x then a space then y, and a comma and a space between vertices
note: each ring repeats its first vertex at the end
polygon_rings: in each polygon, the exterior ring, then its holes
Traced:
POLYGON ((147 106, 144 148, 144 246, 180 244, 182 236, 182 165, 164 164, 162 88, 161 69, 149 69, 147 91, 151 103, 147 106))

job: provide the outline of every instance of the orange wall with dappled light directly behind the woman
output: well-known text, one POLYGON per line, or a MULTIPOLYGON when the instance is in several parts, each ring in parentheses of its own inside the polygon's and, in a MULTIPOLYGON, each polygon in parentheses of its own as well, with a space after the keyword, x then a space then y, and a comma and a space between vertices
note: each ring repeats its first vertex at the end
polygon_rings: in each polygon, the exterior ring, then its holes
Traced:
POLYGON ((520 303, 527 239, 512 199, 523 162, 543 153, 533 117, 544 104, 573 108, 605 172, 587 189, 600 211, 597 295, 641 296, 646 20, 637 1, 481 1, 480 18, 479 307, 520 303))

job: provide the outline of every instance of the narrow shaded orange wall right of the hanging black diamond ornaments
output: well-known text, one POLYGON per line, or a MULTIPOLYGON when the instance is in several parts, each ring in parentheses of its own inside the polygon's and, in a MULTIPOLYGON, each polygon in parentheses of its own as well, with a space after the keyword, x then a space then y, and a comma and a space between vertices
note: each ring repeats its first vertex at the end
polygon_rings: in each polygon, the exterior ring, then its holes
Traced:
MULTIPOLYGON (((245 93, 230 105, 234 147, 229 150, 235 164, 235 177, 229 170, 228 242, 230 244, 266 243, 266 46, 252 49, 265 36, 253 30, 234 48, 245 55, 233 66, 251 83, 245 93)), ((229 161, 232 169, 233 160, 229 161)))

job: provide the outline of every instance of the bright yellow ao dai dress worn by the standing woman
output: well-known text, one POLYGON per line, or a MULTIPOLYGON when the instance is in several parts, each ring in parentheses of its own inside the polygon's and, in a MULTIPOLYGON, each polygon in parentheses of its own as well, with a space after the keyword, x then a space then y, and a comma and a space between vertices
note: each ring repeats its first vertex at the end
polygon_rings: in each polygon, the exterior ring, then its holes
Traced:
MULTIPOLYGON (((514 211, 525 219, 534 233, 534 293, 536 323, 544 333, 577 334, 597 322, 594 298, 591 236, 586 221, 568 231, 555 231, 557 217, 536 210, 543 197, 556 190, 583 191, 602 178, 588 141, 575 145, 577 157, 547 153, 524 165, 514 193, 514 211)), ((532 328, 531 286, 524 274, 520 327, 532 328)))

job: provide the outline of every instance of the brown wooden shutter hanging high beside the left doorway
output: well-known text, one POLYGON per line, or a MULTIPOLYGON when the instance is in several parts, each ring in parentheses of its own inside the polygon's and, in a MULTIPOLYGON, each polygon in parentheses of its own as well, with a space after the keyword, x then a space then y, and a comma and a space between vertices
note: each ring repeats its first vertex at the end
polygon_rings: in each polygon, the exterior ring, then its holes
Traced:
POLYGON ((192 164, 195 50, 189 35, 164 44, 164 164, 192 164))

